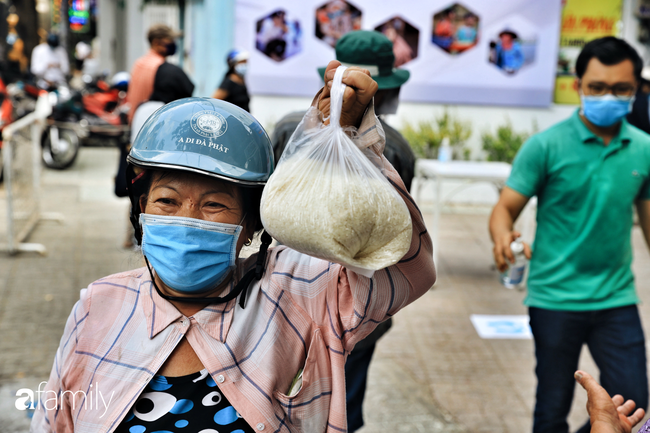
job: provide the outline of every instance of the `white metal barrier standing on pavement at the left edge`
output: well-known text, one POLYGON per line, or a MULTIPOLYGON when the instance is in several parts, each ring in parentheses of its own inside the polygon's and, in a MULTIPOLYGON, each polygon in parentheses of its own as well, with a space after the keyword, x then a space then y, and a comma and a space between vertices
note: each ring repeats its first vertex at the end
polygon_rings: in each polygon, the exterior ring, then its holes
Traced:
POLYGON ((41 134, 51 113, 52 106, 44 93, 39 96, 34 112, 2 130, 7 243, 0 244, 0 250, 9 254, 21 251, 45 254, 44 245, 23 241, 40 221, 63 221, 61 214, 40 211, 41 134))

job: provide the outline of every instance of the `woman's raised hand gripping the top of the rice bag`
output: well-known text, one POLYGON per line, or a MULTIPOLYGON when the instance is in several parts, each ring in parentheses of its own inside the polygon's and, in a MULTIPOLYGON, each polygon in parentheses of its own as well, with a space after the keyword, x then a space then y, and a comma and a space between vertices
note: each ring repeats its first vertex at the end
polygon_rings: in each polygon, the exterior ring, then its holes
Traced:
MULTIPOLYGON (((341 62, 332 60, 325 69, 325 87, 318 101, 318 110, 323 113, 324 117, 329 117, 330 115, 330 90, 336 68, 340 65, 341 62)), ((343 73, 343 84, 347 87, 343 93, 341 126, 354 126, 358 128, 366 112, 366 107, 377 92, 377 82, 370 77, 370 71, 367 69, 351 66, 343 73)))

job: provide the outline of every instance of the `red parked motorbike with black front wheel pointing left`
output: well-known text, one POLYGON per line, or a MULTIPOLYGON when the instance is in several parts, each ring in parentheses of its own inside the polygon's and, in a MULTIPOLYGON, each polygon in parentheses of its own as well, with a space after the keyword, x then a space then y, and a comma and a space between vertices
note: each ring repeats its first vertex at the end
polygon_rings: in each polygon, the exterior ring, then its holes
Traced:
POLYGON ((52 115, 41 137, 47 167, 70 167, 85 145, 125 145, 129 141, 126 104, 128 74, 115 74, 111 84, 84 77, 86 87, 71 91, 61 86, 51 91, 52 115))

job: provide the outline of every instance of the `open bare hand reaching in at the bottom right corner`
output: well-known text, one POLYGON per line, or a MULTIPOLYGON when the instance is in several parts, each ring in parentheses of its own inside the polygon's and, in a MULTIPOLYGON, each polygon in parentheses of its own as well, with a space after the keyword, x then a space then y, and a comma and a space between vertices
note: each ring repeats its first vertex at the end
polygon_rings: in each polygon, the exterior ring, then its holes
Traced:
POLYGON ((634 408, 632 400, 624 401, 620 395, 610 398, 589 373, 575 372, 576 381, 587 391, 587 412, 591 420, 591 433, 630 433, 645 415, 643 409, 634 408), (634 411, 634 413, 632 413, 634 411), (632 415, 629 415, 632 413, 632 415))

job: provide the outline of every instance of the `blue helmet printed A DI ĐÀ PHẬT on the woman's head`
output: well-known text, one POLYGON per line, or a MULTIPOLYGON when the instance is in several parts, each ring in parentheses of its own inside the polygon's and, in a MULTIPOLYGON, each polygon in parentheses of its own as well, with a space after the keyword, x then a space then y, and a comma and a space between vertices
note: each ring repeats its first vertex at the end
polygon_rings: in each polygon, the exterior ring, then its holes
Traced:
POLYGON ((273 172, 273 147, 247 111, 226 101, 193 97, 155 111, 136 136, 127 162, 131 224, 140 242, 139 200, 148 188, 149 172, 199 173, 248 188, 248 198, 261 197, 273 172))

